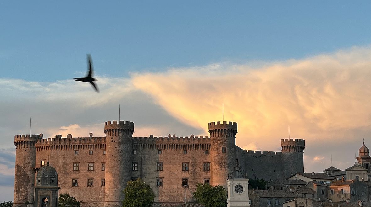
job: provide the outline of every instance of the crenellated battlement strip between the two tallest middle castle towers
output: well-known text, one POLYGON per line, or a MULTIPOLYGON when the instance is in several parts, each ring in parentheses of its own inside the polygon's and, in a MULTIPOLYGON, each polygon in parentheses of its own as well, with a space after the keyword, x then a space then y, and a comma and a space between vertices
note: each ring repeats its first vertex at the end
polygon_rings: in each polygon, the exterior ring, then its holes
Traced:
POLYGON ((175 134, 169 134, 167 137, 133 137, 133 143, 143 144, 157 144, 157 143, 210 143, 210 137, 197 137, 191 135, 190 137, 177 137, 175 134))

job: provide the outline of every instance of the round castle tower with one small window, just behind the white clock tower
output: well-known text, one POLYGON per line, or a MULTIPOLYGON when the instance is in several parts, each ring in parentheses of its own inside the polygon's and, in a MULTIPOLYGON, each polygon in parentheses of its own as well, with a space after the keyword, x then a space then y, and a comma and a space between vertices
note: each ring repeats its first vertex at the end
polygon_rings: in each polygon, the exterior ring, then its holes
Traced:
POLYGON ((209 123, 211 185, 227 189, 228 175, 236 167, 237 123, 209 123))

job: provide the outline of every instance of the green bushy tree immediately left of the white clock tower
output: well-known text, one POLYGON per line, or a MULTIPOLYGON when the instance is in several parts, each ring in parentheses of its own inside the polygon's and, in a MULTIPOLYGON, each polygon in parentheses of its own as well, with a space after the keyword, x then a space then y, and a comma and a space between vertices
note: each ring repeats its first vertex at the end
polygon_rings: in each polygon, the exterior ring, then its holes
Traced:
POLYGON ((196 191, 192 194, 196 203, 203 204, 205 207, 227 206, 227 191, 223 186, 198 183, 196 191))

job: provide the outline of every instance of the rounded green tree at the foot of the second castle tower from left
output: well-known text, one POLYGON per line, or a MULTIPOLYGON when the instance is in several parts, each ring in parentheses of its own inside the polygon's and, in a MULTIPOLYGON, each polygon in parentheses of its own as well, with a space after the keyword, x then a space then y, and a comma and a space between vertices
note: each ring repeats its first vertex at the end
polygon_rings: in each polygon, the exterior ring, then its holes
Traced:
POLYGON ((155 198, 151 186, 142 181, 141 178, 128 181, 128 185, 123 192, 125 199, 122 201, 122 207, 147 207, 155 198))

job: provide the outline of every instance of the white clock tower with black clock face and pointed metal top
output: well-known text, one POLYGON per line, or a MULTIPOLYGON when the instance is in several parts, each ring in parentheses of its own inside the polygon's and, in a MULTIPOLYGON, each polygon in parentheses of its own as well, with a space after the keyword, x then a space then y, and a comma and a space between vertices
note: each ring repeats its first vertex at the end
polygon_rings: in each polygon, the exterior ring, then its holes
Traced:
POLYGON ((227 180, 227 207, 250 207, 249 179, 241 173, 238 159, 236 163, 227 180))

